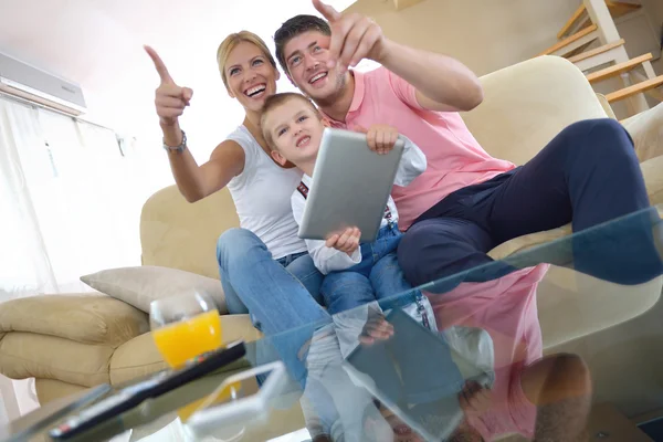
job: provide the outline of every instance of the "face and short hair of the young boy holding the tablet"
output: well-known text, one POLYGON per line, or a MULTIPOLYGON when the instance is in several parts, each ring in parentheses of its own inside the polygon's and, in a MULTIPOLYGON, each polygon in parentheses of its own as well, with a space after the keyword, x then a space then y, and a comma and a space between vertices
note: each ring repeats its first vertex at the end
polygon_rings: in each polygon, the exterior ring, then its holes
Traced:
POLYGON ((272 109, 263 124, 276 147, 272 157, 281 165, 315 161, 325 126, 306 103, 288 99, 272 109))

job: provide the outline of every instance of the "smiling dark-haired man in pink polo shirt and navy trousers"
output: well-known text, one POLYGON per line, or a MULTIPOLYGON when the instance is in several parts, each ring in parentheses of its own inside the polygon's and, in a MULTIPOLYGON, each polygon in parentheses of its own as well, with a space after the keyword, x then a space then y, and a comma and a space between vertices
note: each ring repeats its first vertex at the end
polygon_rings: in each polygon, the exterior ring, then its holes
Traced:
MULTIPOLYGON (((427 155, 427 171, 392 191, 400 227, 408 230, 399 263, 412 285, 486 264, 492 261, 486 253, 513 238, 571 221, 580 231, 649 207, 632 140, 617 122, 576 123, 516 168, 492 158, 457 114, 483 99, 478 78, 467 67, 396 43, 366 17, 341 15, 320 0, 313 3, 329 23, 297 15, 274 35, 288 78, 334 127, 391 125, 427 155), (365 57, 382 67, 348 70, 365 57)), ((603 254, 594 249, 590 256, 576 253, 576 269, 627 284, 661 274, 651 224, 646 228, 635 234, 640 241, 629 242, 638 243, 636 266, 622 269, 614 256, 600 262, 603 254)), ((512 271, 505 264, 492 277, 512 271)))

